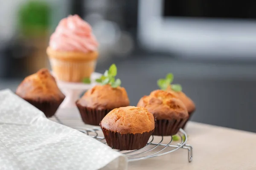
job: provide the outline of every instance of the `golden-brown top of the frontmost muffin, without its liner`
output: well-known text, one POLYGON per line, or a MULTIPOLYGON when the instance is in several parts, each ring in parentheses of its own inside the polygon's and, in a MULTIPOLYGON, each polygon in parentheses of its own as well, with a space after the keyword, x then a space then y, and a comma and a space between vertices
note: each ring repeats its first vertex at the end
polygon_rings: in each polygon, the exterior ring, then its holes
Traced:
POLYGON ((149 132, 154 130, 154 116, 145 108, 116 108, 102 119, 101 127, 121 134, 149 132))

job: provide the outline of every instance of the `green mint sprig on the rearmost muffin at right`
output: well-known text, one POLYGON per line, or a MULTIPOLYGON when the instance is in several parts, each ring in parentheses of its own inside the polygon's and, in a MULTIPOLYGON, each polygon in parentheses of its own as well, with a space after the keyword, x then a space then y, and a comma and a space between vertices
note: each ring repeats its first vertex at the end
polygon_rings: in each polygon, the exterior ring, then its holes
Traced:
MULTIPOLYGON (((172 73, 169 73, 166 75, 165 79, 158 79, 157 80, 157 85, 159 86, 159 88, 161 90, 166 90, 168 88, 169 85, 171 85, 172 81, 174 79, 174 76, 172 73)), ((171 88, 173 91, 182 91, 182 87, 179 84, 173 84, 171 85, 171 88)))

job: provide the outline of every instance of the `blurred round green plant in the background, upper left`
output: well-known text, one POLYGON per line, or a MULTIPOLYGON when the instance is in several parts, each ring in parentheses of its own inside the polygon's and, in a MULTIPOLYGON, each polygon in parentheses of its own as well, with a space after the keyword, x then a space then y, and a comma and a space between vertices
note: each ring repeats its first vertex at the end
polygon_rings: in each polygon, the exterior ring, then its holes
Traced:
POLYGON ((44 0, 28 0, 18 11, 18 26, 25 36, 45 34, 49 29, 50 6, 44 0))

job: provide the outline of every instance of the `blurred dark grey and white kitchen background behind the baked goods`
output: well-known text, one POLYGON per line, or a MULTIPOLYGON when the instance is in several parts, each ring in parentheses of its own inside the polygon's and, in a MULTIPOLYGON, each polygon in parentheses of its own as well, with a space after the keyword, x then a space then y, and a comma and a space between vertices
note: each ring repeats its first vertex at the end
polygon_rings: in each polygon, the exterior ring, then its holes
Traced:
POLYGON ((58 21, 79 14, 99 41, 97 72, 116 63, 131 105, 174 73, 192 120, 256 132, 256 1, 0 0, 0 90, 49 67, 58 21))

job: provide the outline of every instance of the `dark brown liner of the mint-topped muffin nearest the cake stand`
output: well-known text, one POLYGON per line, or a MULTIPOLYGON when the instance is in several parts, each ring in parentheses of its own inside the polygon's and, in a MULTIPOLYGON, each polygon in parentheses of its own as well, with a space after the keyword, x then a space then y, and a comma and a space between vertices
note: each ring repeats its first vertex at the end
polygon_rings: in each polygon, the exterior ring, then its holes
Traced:
POLYGON ((99 126, 99 122, 112 111, 112 109, 97 110, 92 108, 86 108, 76 102, 76 106, 81 114, 81 118, 85 124, 99 126))

